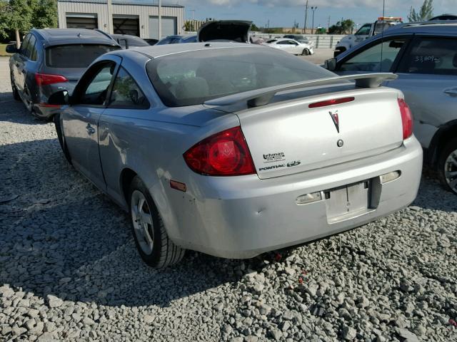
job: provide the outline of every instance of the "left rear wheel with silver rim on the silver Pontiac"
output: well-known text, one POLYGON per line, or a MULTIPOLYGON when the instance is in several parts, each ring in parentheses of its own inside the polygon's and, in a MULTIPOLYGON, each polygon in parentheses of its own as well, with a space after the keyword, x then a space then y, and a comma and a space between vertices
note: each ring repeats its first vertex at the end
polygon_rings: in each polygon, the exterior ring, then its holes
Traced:
POLYGON ((176 246, 144 183, 134 177, 129 189, 132 232, 141 259, 157 269, 171 266, 183 259, 185 249, 176 246))

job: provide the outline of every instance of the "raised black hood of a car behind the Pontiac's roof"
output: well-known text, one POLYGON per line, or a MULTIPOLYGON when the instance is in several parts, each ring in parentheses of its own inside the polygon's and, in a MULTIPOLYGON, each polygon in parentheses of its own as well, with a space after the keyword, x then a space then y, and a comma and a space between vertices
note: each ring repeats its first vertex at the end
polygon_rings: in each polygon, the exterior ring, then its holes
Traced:
POLYGON ((201 26, 197 34, 198 41, 238 41, 247 43, 252 21, 217 20, 201 26))

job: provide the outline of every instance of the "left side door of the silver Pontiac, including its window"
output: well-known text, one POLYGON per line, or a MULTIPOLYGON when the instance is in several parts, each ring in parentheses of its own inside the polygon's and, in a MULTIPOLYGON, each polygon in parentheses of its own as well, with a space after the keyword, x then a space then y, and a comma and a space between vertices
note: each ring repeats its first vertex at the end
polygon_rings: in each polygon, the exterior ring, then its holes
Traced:
POLYGON ((99 119, 111 91, 121 58, 109 56, 91 66, 64 110, 64 135, 74 166, 102 190, 106 189, 99 155, 99 119))

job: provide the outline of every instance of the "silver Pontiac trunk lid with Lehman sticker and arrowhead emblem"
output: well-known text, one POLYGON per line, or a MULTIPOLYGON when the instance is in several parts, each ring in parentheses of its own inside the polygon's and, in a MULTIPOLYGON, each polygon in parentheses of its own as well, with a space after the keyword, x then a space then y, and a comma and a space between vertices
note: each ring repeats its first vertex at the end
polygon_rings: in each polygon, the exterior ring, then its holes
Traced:
POLYGON ((398 91, 346 90, 238 111, 258 177, 315 170, 377 155, 403 142, 398 91), (353 98, 317 108, 313 103, 353 98))

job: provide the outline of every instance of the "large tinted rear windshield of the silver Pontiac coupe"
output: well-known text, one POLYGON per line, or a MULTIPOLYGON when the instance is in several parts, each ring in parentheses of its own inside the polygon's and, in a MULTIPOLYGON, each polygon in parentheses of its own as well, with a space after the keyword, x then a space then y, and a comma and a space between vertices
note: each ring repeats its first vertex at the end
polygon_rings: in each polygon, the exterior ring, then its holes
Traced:
POLYGON ((287 83, 335 76, 320 66, 268 47, 214 48, 155 58, 149 79, 169 107, 287 83))

